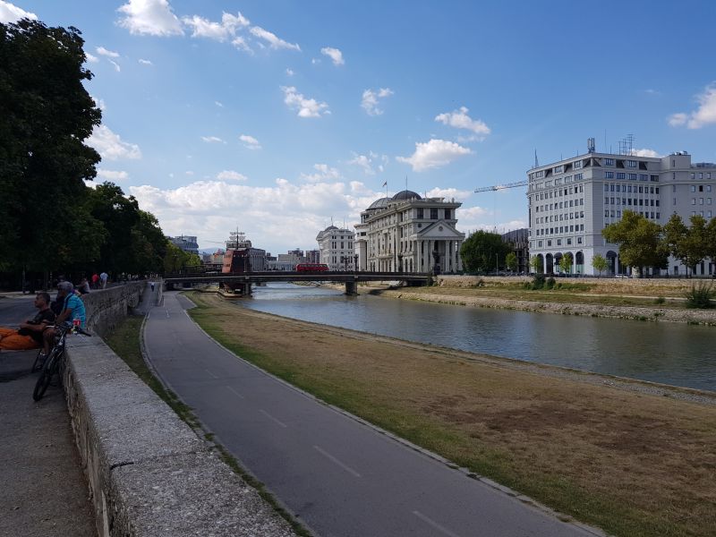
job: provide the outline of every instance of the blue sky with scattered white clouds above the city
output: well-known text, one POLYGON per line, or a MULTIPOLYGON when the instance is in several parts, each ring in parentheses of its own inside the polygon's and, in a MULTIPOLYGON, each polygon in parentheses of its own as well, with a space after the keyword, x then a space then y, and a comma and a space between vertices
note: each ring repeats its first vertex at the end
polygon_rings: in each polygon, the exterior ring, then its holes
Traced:
POLYGON ((541 164, 686 149, 716 162, 716 3, 0 0, 85 39, 90 145, 166 234, 272 253, 405 189, 458 229, 526 226, 541 164), (605 145, 606 140, 606 145, 605 145))

